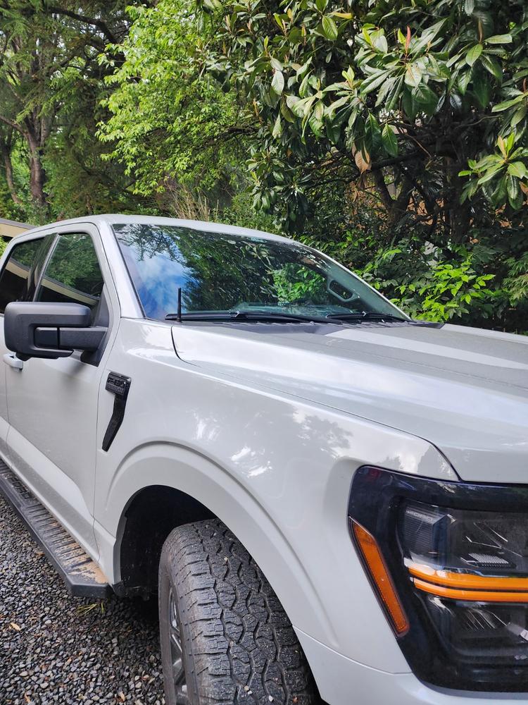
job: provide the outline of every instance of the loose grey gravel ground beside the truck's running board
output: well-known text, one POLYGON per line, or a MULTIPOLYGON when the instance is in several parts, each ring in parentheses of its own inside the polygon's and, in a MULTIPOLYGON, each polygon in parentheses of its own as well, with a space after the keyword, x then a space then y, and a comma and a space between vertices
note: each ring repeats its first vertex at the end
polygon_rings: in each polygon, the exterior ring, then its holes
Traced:
POLYGON ((0 704, 164 703, 155 601, 68 595, 0 496, 0 704))

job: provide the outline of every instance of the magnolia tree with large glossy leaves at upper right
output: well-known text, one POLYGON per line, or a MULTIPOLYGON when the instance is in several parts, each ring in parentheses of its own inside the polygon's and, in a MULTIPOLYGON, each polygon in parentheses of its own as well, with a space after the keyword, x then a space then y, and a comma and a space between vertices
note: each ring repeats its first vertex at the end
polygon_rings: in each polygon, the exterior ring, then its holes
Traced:
POLYGON ((198 0, 203 68, 258 125, 256 204, 294 223, 323 184, 375 190, 431 240, 522 219, 525 0, 198 0))

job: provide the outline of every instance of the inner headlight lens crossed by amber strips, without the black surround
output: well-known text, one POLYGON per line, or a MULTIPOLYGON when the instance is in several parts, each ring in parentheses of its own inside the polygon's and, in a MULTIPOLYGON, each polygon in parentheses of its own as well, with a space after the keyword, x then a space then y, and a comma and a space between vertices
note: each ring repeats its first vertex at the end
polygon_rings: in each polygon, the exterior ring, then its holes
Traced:
POLYGON ((528 663, 528 517, 406 503, 403 557, 460 663, 528 663))

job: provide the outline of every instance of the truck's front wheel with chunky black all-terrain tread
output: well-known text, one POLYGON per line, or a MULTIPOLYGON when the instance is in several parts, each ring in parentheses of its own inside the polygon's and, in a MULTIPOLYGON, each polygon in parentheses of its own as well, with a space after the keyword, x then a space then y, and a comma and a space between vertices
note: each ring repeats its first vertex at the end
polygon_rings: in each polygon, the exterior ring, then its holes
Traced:
POLYGON ((158 600, 167 705, 320 702, 277 596, 219 520, 171 532, 158 600))

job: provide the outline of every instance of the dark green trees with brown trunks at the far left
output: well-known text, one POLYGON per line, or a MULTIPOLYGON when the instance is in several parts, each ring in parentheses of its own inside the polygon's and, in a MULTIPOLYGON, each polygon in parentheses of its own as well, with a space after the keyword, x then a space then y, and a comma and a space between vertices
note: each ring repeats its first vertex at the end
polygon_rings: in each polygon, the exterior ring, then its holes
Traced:
POLYGON ((137 207, 130 179, 103 164, 95 137, 107 91, 99 54, 126 32, 124 6, 0 4, 0 152, 23 219, 137 207))

